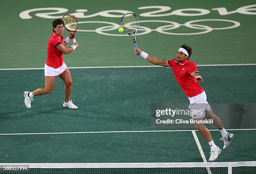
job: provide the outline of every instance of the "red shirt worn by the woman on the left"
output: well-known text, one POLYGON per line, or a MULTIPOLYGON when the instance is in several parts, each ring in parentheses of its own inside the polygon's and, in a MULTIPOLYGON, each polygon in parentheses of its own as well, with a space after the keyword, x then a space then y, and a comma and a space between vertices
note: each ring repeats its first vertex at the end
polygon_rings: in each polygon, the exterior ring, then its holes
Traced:
POLYGON ((59 68, 64 62, 63 53, 56 48, 59 44, 63 44, 64 46, 66 45, 62 36, 58 36, 53 33, 49 38, 47 46, 46 65, 49 67, 59 68))

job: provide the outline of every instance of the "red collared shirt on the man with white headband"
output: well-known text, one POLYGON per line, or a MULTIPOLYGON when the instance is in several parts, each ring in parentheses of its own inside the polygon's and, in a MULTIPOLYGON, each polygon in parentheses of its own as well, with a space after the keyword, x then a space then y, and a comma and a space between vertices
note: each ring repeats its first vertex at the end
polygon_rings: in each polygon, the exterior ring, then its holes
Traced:
POLYGON ((185 60, 179 64, 177 59, 172 59, 167 60, 167 64, 172 68, 178 84, 187 97, 194 97, 204 91, 200 83, 195 82, 195 77, 191 75, 193 72, 199 72, 194 61, 185 60))

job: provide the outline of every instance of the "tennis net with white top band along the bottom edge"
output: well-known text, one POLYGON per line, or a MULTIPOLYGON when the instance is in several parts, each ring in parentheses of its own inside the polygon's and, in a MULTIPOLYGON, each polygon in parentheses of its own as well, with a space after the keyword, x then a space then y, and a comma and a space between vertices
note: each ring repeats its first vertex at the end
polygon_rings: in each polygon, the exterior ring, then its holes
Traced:
POLYGON ((0 174, 256 174, 256 161, 215 163, 12 163, 0 164, 0 166, 0 174), (17 166, 21 167, 17 169, 17 166))

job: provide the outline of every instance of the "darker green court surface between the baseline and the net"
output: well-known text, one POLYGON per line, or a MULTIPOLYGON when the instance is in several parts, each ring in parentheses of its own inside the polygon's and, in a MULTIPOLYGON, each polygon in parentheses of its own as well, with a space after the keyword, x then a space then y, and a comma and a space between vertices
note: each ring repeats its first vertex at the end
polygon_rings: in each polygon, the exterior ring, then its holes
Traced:
MULTIPOLYGON (((251 81, 255 78, 254 66, 199 69, 210 103, 254 101, 256 85, 251 81), (222 76, 218 77, 220 72, 222 76), (237 77, 243 86, 235 86, 237 77)), ((43 70, 0 71, 3 77, 0 95, 5 101, 1 106, 1 133, 102 132, 1 135, 1 162, 202 162, 191 131, 154 132, 159 129, 151 127, 151 103, 188 103, 171 70, 164 67, 70 69, 74 82, 72 99, 78 110, 62 108, 64 92, 59 78, 54 92, 35 97, 33 107, 27 109, 23 91, 44 84, 43 70), (115 133, 145 130, 152 132, 115 133)), ((251 146, 255 130, 234 133, 234 147, 223 151, 217 161, 253 161, 255 156, 251 154, 256 151, 251 146), (238 149, 241 146, 243 150, 238 149)), ((220 133, 212 131, 212 134, 216 144, 223 146, 218 140, 220 133)), ((199 134, 198 137, 207 156, 208 144, 199 134)))

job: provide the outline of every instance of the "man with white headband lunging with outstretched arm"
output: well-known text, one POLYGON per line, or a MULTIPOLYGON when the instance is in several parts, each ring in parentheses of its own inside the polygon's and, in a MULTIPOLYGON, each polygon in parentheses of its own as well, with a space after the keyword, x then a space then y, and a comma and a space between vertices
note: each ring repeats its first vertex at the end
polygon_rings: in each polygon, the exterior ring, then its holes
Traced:
MULTIPOLYGON (((177 58, 167 61, 148 55, 146 52, 141 51, 141 49, 139 48, 134 49, 135 54, 137 53, 137 51, 139 52, 139 55, 141 55, 144 59, 147 59, 153 64, 172 68, 173 74, 178 84, 189 98, 189 109, 205 110, 205 113, 194 115, 192 117, 194 121, 203 120, 203 118, 212 119, 214 125, 220 130, 220 133, 223 136, 223 138, 220 138, 224 141, 223 149, 228 148, 234 135, 232 133, 228 133, 225 130, 220 118, 212 113, 211 107, 206 101, 207 97, 205 91, 200 87, 200 83, 198 82, 204 82, 203 78, 200 74, 198 74, 199 71, 197 70, 195 62, 189 61, 189 57, 192 54, 192 49, 184 44, 179 48, 177 52, 177 58)), ((209 161, 214 161, 221 153, 221 149, 215 145, 212 140, 210 131, 205 127, 205 125, 195 122, 194 126, 209 143, 211 148, 209 161)))

